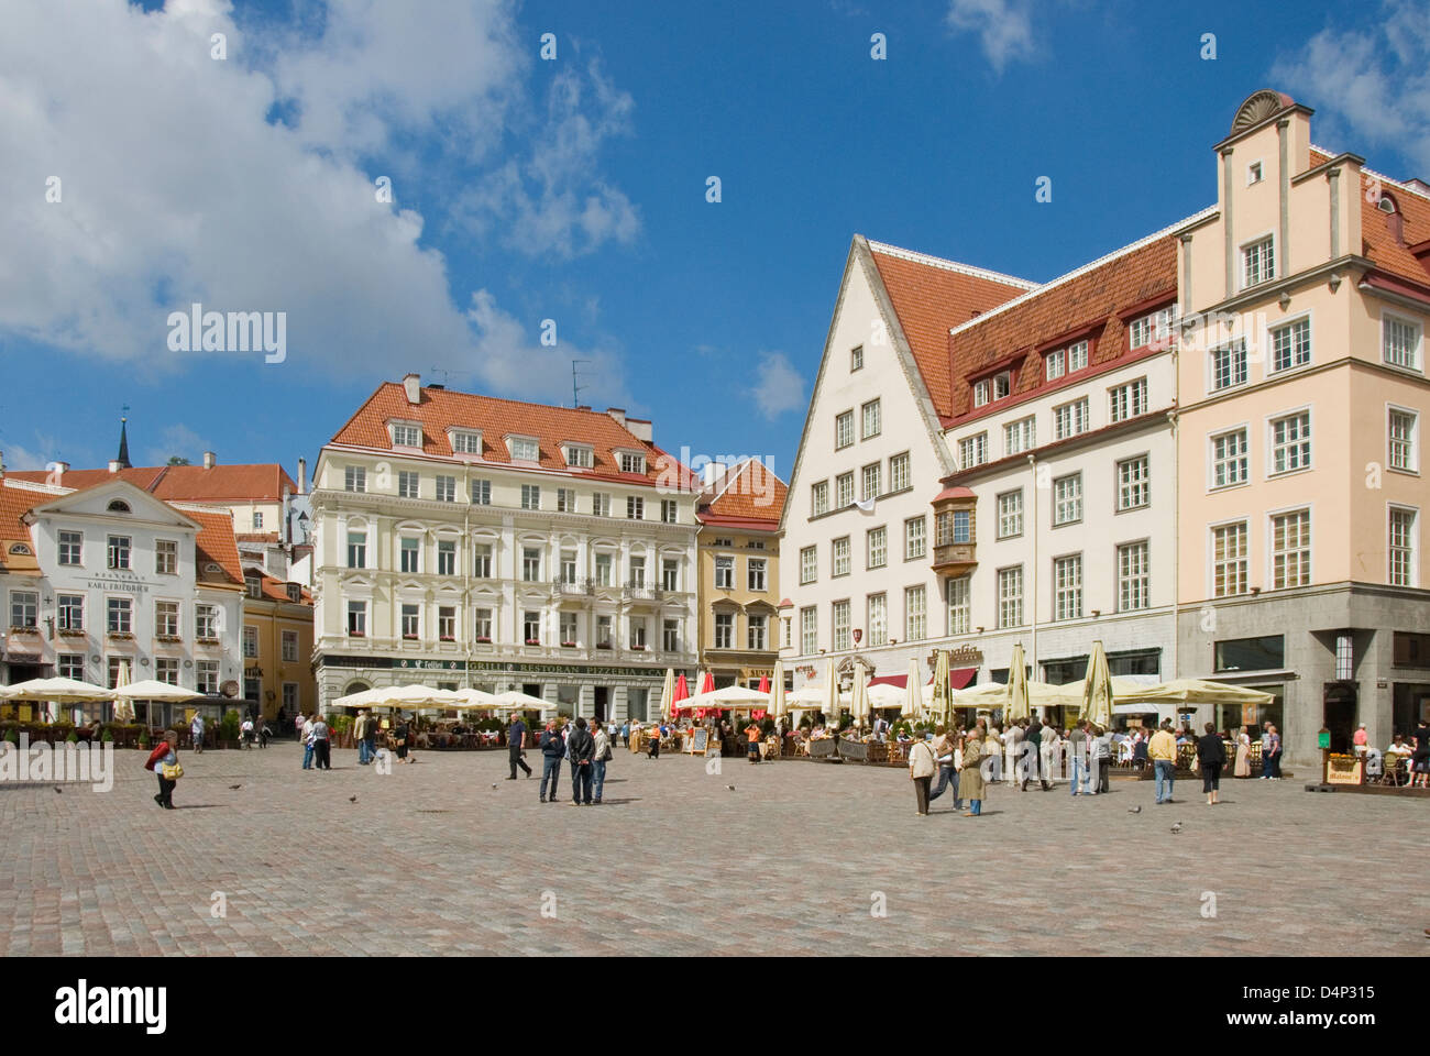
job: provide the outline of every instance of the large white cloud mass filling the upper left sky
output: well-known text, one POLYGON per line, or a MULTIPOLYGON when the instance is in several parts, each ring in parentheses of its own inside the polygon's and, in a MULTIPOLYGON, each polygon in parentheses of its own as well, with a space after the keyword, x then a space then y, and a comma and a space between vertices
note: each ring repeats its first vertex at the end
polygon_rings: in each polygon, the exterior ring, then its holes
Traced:
MULTIPOLYGON (((222 355, 166 348, 169 312, 197 300, 286 312, 287 362, 300 369, 390 375, 412 349, 476 352, 470 286, 450 288, 445 256, 422 240, 425 217, 402 207, 398 172, 478 179, 472 159, 529 120, 519 79, 535 43, 515 40, 509 3, 449 1, 440 16, 379 0, 297 10, 320 16, 320 33, 240 26, 222 0, 6 10, 0 333, 172 373, 222 355), (227 60, 210 57, 212 33, 227 34, 227 60), (396 206, 376 200, 385 173, 396 206), (46 202, 51 176, 57 203, 46 202)), ((552 193, 518 222, 542 228, 538 242, 555 252, 563 238, 629 239, 635 209, 592 146, 629 96, 592 70, 548 109, 559 150, 533 150, 532 165, 552 193)), ((277 379, 283 368, 265 369, 277 379)), ((503 395, 529 391, 529 376, 508 373, 503 395)))

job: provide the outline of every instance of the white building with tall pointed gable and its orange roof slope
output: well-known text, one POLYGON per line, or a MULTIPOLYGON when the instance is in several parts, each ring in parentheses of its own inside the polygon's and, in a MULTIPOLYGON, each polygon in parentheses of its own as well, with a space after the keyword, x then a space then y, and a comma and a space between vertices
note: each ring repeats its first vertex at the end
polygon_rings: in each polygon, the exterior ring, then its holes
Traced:
POLYGON ((827 657, 901 675, 947 644, 930 501, 955 468, 948 332, 1031 288, 854 238, 781 521, 781 658, 797 687, 827 657))

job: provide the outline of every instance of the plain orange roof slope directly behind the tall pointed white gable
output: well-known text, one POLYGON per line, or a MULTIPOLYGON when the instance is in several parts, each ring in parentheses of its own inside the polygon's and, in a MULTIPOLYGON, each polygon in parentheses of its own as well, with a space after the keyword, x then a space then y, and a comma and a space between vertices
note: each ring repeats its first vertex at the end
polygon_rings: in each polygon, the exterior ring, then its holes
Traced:
POLYGON ((1034 283, 882 243, 871 242, 869 250, 934 401, 934 411, 942 418, 952 412, 955 388, 948 359, 948 331, 1028 292, 1034 283))

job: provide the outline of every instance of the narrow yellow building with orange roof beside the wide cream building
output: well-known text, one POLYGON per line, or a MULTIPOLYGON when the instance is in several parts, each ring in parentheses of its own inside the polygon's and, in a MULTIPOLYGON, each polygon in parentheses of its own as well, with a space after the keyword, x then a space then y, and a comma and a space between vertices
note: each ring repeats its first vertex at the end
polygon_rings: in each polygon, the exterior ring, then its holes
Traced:
POLYGON ((784 507, 785 482, 746 459, 712 485, 696 511, 701 668, 715 674, 716 688, 758 687, 774 674, 784 507))

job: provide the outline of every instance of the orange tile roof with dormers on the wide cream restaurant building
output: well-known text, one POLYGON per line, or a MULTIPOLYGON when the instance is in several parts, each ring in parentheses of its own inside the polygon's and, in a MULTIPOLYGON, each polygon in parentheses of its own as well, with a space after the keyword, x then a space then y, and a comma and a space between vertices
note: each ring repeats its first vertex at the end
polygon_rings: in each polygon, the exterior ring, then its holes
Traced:
POLYGON ((452 441, 448 436, 449 428, 459 428, 482 434, 482 458, 489 464, 512 464, 505 441, 508 435, 533 436, 538 441, 542 469, 685 491, 691 491, 695 484, 689 469, 675 456, 655 444, 642 441, 605 412, 523 404, 432 388, 423 388, 420 402, 413 406, 398 382, 380 385, 329 442, 390 451, 392 435, 388 432, 388 422, 392 419, 420 422, 422 452, 433 458, 465 461, 452 451, 452 441), (572 469, 566 465, 561 449, 565 441, 589 444, 593 448, 591 469, 572 469), (621 459, 615 454, 618 448, 645 452, 645 474, 621 472, 621 459))

